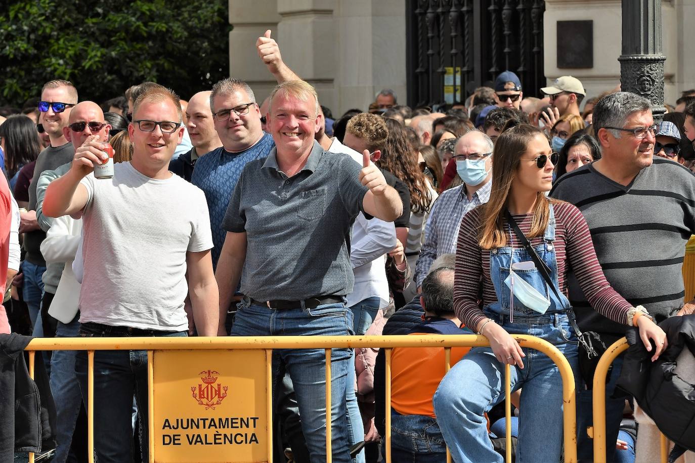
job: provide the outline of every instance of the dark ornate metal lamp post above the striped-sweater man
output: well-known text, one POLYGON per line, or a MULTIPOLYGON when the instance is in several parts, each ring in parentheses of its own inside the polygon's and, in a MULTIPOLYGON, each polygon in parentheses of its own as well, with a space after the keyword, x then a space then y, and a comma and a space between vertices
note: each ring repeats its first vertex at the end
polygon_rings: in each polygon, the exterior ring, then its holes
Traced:
POLYGON ((654 121, 664 117, 664 61, 661 37, 661 0, 623 0, 621 89, 652 103, 654 121))

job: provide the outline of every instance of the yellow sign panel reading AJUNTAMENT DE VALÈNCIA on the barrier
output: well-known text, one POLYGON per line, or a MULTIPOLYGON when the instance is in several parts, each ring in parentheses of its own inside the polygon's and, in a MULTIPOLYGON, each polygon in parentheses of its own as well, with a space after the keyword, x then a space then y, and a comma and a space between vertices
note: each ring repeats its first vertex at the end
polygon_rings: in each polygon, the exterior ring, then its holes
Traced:
POLYGON ((156 462, 268 462, 263 350, 155 351, 156 462))

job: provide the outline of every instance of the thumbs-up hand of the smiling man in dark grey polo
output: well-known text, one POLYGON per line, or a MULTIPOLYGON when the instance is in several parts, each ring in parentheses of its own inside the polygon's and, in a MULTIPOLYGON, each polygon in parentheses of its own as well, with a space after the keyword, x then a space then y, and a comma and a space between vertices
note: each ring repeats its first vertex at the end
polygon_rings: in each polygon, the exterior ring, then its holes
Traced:
POLYGON ((364 212, 384 221, 394 221, 403 213, 403 203, 393 187, 386 184, 384 174, 370 161, 368 150, 362 152, 362 170, 359 181, 369 188, 364 195, 362 206, 364 212))

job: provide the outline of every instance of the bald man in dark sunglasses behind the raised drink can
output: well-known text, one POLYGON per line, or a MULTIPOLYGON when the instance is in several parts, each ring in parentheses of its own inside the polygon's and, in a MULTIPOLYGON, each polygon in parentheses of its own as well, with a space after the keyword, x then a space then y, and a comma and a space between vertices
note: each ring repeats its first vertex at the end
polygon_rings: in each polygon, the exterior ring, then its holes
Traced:
MULTIPOLYGON (((78 149, 93 140, 107 142, 108 131, 110 130, 111 125, 104 121, 104 112, 99 105, 92 101, 82 101, 72 108, 68 125, 63 127, 63 136, 65 136, 65 140, 72 142, 74 149, 78 149)), ((54 221, 53 218, 43 214, 46 189, 53 180, 70 170, 70 165, 71 163, 67 162, 56 169, 43 171, 38 178, 36 215, 39 225, 45 232, 49 231, 54 221)), ((44 272, 45 291, 41 307, 44 337, 76 337, 79 332, 79 311, 76 311, 76 307, 67 307, 69 304, 65 303, 65 292, 74 291, 76 282, 72 273, 63 276, 65 262, 74 260, 79 236, 65 236, 64 238, 60 241, 46 239, 41 246, 42 253, 49 261, 54 256, 63 256, 60 261, 54 259, 52 262, 47 262, 47 269, 44 272), (51 305, 54 296, 60 293, 64 294, 63 298, 59 296, 56 303, 51 305), (75 312, 71 312, 71 309, 75 312), (53 315, 57 318, 54 318, 53 315)), ((82 406, 82 394, 75 376, 76 355, 77 351, 55 351, 51 358, 51 392, 56 399, 57 414, 57 446, 54 457, 56 463, 63 463, 71 458, 72 437, 79 422, 77 417, 82 406)), ((85 435, 85 432, 86 429, 83 432, 77 432, 76 435, 85 435)), ((74 448, 81 448, 81 446, 76 445, 74 448)))

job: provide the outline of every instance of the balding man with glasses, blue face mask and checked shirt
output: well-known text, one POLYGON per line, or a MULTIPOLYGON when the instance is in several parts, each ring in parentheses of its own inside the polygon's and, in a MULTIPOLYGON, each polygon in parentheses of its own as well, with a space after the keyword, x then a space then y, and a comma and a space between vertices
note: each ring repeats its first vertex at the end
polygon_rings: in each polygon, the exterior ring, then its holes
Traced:
POLYGON ((415 267, 418 289, 437 257, 456 252, 461 218, 490 199, 492 151, 492 140, 482 132, 468 132, 459 138, 454 159, 464 184, 443 192, 432 206, 425 226, 425 244, 415 267))

